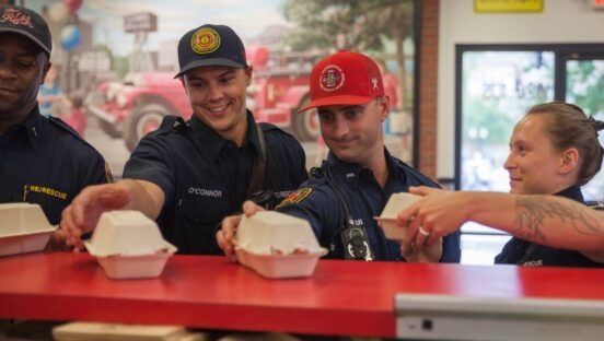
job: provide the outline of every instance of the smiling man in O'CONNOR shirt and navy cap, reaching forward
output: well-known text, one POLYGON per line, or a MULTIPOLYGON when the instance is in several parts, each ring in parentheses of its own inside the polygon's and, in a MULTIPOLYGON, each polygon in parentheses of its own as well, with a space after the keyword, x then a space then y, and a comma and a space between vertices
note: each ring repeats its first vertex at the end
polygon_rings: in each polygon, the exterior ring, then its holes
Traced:
POLYGON ((202 25, 178 43, 175 75, 194 115, 169 116, 143 138, 124 169, 124 180, 86 188, 63 211, 61 230, 71 245, 94 228, 106 210, 142 211, 158 221, 181 254, 220 252, 220 221, 246 199, 270 205, 307 178, 305 155, 289 133, 256 124, 246 109, 252 82, 240 37, 224 25, 202 25))

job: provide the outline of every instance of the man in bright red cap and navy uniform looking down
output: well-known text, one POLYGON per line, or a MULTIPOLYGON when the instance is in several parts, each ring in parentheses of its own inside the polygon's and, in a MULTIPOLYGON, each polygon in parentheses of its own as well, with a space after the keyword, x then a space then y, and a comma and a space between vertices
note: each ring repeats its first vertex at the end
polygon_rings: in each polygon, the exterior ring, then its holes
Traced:
MULTIPOLYGON (((311 102, 301 111, 317 109, 329 154, 277 210, 307 220, 320 244, 329 250, 328 258, 458 262, 458 232, 426 249, 402 252, 373 219, 393 193, 407 191, 409 186, 438 187, 385 148, 382 124, 390 104, 375 62, 361 54, 340 51, 314 66, 310 82, 311 102)), ((260 208, 246 202, 243 209, 253 214, 260 208)), ((240 219, 225 219, 217 233, 229 256, 240 219)))

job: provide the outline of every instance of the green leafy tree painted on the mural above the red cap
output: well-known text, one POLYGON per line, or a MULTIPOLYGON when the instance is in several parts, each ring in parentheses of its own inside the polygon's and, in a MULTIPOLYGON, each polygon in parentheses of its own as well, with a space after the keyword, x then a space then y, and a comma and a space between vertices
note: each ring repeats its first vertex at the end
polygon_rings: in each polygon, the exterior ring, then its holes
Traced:
POLYGON ((392 40, 394 56, 383 57, 394 57, 400 90, 406 94, 404 43, 414 35, 414 0, 286 0, 283 15, 297 24, 287 44, 294 51, 345 48, 378 52, 392 40))

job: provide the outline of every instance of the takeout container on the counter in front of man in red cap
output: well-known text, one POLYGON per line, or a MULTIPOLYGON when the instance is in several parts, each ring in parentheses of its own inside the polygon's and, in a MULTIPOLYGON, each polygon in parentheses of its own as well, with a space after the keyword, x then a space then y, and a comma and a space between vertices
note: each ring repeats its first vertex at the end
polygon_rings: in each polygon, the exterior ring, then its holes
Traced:
POLYGON ((307 221, 276 211, 244 216, 235 243, 237 261, 269 279, 309 277, 327 254, 307 221))

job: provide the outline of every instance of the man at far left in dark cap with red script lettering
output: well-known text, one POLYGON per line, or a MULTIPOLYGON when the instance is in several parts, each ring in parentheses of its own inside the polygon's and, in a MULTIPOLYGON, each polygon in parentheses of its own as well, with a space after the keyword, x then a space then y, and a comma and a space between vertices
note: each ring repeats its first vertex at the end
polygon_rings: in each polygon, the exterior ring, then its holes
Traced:
POLYGON ((36 96, 50 68, 48 25, 36 12, 0 7, 0 202, 38 203, 51 224, 88 185, 107 183, 101 154, 36 96))

